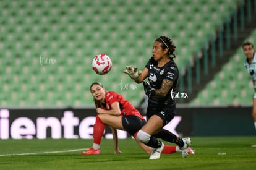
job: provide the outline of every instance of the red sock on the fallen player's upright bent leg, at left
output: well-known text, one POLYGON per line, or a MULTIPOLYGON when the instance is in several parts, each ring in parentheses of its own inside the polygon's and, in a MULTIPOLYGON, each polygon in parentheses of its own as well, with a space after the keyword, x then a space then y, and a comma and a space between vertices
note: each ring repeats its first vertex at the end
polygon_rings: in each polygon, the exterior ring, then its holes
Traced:
POLYGON ((105 124, 103 124, 100 117, 96 116, 95 125, 93 126, 93 143, 100 144, 104 129, 105 124))

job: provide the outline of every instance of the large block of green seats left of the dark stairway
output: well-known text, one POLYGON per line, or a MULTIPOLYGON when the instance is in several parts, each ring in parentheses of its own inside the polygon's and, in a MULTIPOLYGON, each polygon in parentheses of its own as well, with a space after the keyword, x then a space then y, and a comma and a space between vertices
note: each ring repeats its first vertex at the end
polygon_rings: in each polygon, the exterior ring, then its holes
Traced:
POLYGON ((122 91, 119 86, 121 80, 132 84, 122 73, 125 66, 134 64, 143 69, 153 40, 168 35, 177 46, 179 68, 186 67, 208 35, 214 34, 219 24, 215 20, 222 22, 236 8, 236 2, 3 0, 0 74, 4 78, 0 86, 4 87, 0 93, 4 101, 0 104, 92 104, 87 90, 96 81, 137 104, 143 89, 122 91), (205 11, 216 11, 215 20, 205 11), (92 57, 101 53, 113 60, 111 72, 104 76, 96 75, 90 66, 92 57), (40 63, 40 56, 48 62, 40 63), (49 63, 49 59, 56 63, 49 63))

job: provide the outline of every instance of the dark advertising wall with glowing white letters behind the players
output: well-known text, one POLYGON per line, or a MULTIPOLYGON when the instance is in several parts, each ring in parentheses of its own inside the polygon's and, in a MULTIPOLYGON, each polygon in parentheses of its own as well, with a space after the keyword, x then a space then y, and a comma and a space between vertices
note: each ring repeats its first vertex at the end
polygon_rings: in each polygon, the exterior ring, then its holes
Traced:
MULTIPOLYGON (((179 136, 255 135, 251 112, 251 107, 178 107, 164 128, 179 136)), ((90 139, 94 122, 94 108, 0 109, 0 139, 90 139)), ((118 136, 130 137, 122 130, 118 136)), ((109 127, 104 137, 112 138, 109 127)))

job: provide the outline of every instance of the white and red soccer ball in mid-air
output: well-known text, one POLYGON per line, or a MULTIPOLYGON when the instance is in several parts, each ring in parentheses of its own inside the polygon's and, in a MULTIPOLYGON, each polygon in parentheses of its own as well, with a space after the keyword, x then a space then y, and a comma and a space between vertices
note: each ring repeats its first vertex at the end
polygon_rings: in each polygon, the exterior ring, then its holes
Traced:
POLYGON ((112 61, 106 54, 98 54, 93 57, 92 69, 96 74, 107 74, 112 68, 112 61))

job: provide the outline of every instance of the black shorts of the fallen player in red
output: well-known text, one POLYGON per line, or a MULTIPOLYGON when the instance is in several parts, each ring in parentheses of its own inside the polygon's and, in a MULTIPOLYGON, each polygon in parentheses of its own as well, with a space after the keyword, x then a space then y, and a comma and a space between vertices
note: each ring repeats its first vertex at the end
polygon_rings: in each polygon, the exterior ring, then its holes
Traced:
POLYGON ((140 117, 138 116, 134 116, 134 115, 122 116, 122 126, 132 136, 134 136, 134 134, 138 132, 145 124, 146 124, 146 121, 143 119, 140 119, 140 117))

